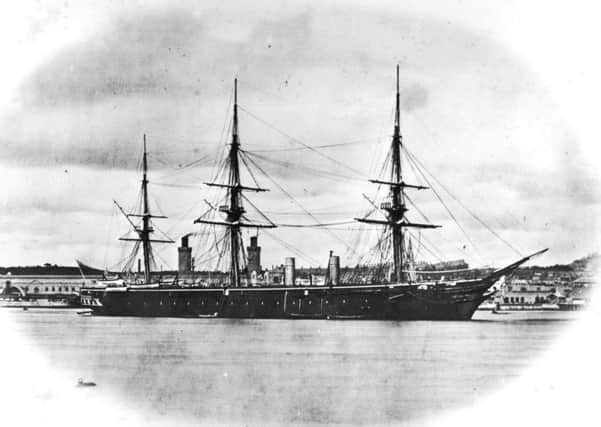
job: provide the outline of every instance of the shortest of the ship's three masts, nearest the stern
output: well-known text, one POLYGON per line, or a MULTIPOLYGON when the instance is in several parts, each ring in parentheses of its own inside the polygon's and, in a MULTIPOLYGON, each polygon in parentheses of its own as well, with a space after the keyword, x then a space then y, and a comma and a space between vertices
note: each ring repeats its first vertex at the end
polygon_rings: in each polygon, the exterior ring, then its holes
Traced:
POLYGON ((123 208, 119 205, 119 203, 117 203, 115 200, 113 200, 113 202, 117 205, 117 207, 119 208, 121 213, 123 213, 123 215, 125 215, 125 218, 127 218, 128 222, 132 226, 133 230, 138 235, 137 238, 121 237, 119 240, 141 242, 142 258, 144 260, 144 283, 150 283, 152 280, 151 264, 152 264, 152 260, 153 260, 151 243, 152 242, 174 243, 174 242, 171 239, 163 240, 163 239, 151 239, 150 238, 150 235, 154 232, 154 228, 152 227, 152 224, 151 224, 151 219, 152 218, 167 218, 167 217, 163 216, 163 215, 152 215, 150 213, 150 206, 148 203, 148 154, 147 154, 147 150, 146 150, 146 134, 144 134, 144 153, 142 155, 141 192, 142 192, 142 211, 140 213, 129 213, 128 214, 123 210, 123 208), (131 217, 142 218, 142 227, 140 228, 136 224, 134 224, 134 222, 131 220, 131 217))

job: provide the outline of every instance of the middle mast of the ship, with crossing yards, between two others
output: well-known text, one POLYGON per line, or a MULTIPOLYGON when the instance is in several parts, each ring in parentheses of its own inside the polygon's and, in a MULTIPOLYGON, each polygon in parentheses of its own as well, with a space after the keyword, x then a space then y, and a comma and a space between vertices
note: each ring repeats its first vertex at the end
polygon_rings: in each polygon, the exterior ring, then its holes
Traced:
POLYGON ((211 221, 198 218, 194 221, 194 223, 221 225, 227 228, 227 237, 230 246, 230 286, 240 287, 240 276, 242 273, 241 265, 244 257, 244 245, 242 242, 241 232, 242 228, 275 228, 276 225, 273 223, 252 223, 250 221, 247 221, 244 217, 246 210, 244 209, 244 206, 242 204, 242 192, 263 192, 268 190, 264 188, 244 186, 242 185, 240 179, 240 137, 238 133, 238 79, 234 79, 234 116, 232 123, 232 142, 230 144, 230 150, 228 152, 227 159, 229 167, 227 184, 220 184, 215 182, 205 183, 206 185, 211 187, 222 187, 227 189, 229 205, 219 207, 219 211, 226 214, 225 221, 211 221))

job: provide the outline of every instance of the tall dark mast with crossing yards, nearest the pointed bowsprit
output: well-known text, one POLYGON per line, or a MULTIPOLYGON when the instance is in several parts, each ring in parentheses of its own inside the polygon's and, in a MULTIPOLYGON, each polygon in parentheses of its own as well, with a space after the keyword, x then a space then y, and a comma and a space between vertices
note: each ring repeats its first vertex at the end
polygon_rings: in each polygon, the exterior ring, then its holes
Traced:
POLYGON ((403 271, 404 266, 404 232, 403 229, 406 227, 415 228, 437 228, 438 225, 433 224, 418 224, 412 223, 407 220, 405 213, 407 212, 407 206, 405 204, 405 188, 413 188, 417 190, 424 190, 428 187, 421 185, 406 184, 403 181, 402 164, 401 164, 401 150, 403 148, 403 138, 401 136, 401 108, 400 108, 400 90, 399 90, 399 66, 396 66, 396 108, 394 115, 394 134, 392 136, 392 143, 390 146, 392 167, 390 171, 390 181, 382 181, 378 179, 370 179, 370 182, 376 184, 384 184, 390 186, 389 200, 382 202, 380 209, 384 211, 386 220, 375 220, 367 218, 355 218, 359 222, 365 222, 369 224, 382 224, 389 226, 392 231, 392 248, 393 248, 393 277, 392 280, 395 282, 402 282, 405 280, 403 271))

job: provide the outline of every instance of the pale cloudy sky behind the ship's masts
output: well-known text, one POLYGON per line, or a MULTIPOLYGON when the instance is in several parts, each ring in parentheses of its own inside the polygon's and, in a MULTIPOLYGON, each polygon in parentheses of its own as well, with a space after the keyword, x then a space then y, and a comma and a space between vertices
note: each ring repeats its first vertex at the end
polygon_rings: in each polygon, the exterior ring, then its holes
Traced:
MULTIPOLYGON (((580 103, 590 74, 580 57, 554 66, 578 34, 557 41, 552 21, 530 34, 522 21, 534 7, 31 2, 4 12, 0 265, 122 259, 128 224, 112 200, 135 205, 144 134, 152 208, 169 216, 157 226, 176 240, 199 231, 235 77, 242 146, 272 159, 257 160, 273 181, 255 171, 271 191, 252 202, 282 224, 312 223, 301 205, 321 222, 362 215, 390 143, 396 64, 403 141, 450 190, 438 187, 461 226, 431 192, 411 195, 443 225, 419 237, 430 248, 421 258, 501 265, 549 247, 539 263, 553 264, 599 249, 594 119, 580 103)), ((406 168, 406 179, 420 177, 406 168)), ((261 233, 263 264, 325 265, 329 250, 353 264, 357 228, 261 233)), ((176 266, 175 245, 157 254, 176 266)))

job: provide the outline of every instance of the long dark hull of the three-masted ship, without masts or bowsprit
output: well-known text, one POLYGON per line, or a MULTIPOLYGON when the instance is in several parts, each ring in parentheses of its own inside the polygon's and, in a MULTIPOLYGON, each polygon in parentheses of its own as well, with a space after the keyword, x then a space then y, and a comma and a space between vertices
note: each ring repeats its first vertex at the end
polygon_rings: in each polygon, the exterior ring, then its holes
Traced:
POLYGON ((248 319, 469 320, 490 281, 432 285, 93 291, 94 314, 248 319))

